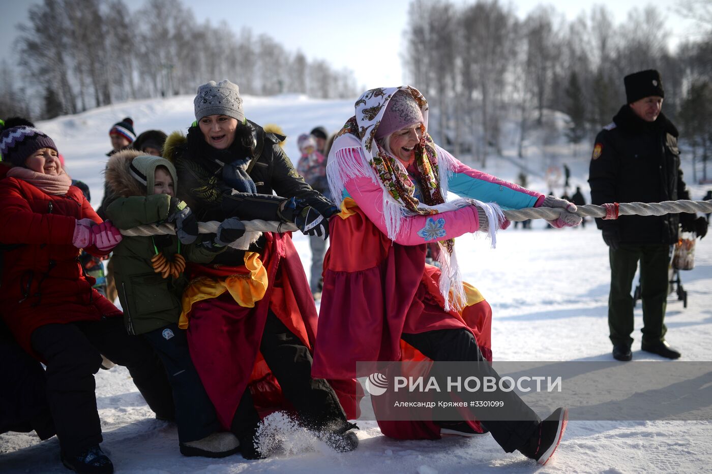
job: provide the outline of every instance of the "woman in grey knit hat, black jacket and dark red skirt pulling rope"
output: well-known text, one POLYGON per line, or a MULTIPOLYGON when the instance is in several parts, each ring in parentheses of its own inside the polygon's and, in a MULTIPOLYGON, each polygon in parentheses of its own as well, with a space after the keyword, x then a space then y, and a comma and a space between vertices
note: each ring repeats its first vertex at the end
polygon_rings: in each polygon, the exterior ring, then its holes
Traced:
MULTIPOLYGON (((201 85, 194 106, 197 122, 187 137, 174 133, 164 147, 179 198, 193 213, 184 235, 197 235, 197 221, 238 217, 293 222, 303 233, 328 236, 337 208, 295 171, 279 145, 285 137, 246 120, 237 85, 201 85)), ((236 227, 224 230, 233 240, 244 233, 236 227)), ((211 265, 193 265, 190 276, 182 324, 191 356, 243 455, 266 454, 252 444, 258 412, 286 406, 337 451, 355 449, 355 425, 346 420, 357 416, 357 384, 311 377, 317 314, 290 235, 263 233, 246 251, 230 248, 211 265)))

